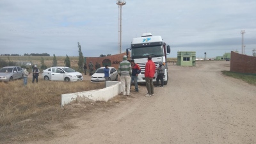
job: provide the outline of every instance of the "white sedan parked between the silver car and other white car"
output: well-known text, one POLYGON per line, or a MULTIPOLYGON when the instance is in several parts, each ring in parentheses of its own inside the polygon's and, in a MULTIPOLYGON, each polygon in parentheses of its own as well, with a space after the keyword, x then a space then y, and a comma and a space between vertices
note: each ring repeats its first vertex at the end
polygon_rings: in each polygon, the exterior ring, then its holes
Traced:
POLYGON ((43 70, 45 81, 83 81, 83 75, 69 67, 50 67, 43 70))

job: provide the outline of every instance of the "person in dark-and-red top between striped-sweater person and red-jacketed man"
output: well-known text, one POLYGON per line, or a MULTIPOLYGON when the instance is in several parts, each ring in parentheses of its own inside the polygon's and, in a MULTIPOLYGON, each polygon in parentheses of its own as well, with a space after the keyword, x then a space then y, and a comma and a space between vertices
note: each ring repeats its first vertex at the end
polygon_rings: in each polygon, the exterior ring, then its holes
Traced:
POLYGON ((131 83, 134 81, 135 86, 135 92, 139 92, 138 89, 138 74, 140 74, 141 69, 140 66, 134 62, 134 60, 131 60, 131 67, 132 67, 132 76, 131 76, 131 83))

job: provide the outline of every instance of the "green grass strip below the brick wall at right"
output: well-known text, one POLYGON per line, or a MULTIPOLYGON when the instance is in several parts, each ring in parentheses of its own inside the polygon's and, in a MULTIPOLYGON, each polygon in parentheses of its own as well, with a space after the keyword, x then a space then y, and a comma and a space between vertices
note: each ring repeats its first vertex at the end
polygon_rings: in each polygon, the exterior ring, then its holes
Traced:
POLYGON ((225 74, 226 76, 229 77, 234 77, 236 79, 241 79, 245 81, 246 83, 256 85, 256 74, 242 74, 242 73, 237 73, 237 72, 230 72, 227 70, 221 71, 222 74, 225 74))

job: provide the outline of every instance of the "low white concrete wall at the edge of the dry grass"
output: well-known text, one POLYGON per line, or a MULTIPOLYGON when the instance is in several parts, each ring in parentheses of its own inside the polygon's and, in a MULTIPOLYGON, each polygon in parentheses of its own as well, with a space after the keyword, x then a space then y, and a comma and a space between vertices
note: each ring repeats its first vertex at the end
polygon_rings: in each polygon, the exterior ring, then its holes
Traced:
POLYGON ((106 81, 105 86, 106 88, 100 90, 62 94, 61 106, 64 106, 73 100, 77 100, 79 102, 96 100, 108 101, 112 97, 115 97, 119 93, 123 92, 120 81, 106 81))

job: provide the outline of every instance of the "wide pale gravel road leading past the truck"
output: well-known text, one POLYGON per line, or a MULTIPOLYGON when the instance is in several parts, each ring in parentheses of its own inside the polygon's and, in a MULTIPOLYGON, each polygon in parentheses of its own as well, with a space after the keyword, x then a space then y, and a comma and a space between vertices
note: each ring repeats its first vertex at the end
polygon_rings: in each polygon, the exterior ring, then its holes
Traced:
POLYGON ((223 76, 230 61, 170 65, 168 84, 70 120, 76 129, 31 143, 256 143, 256 86, 223 76))

